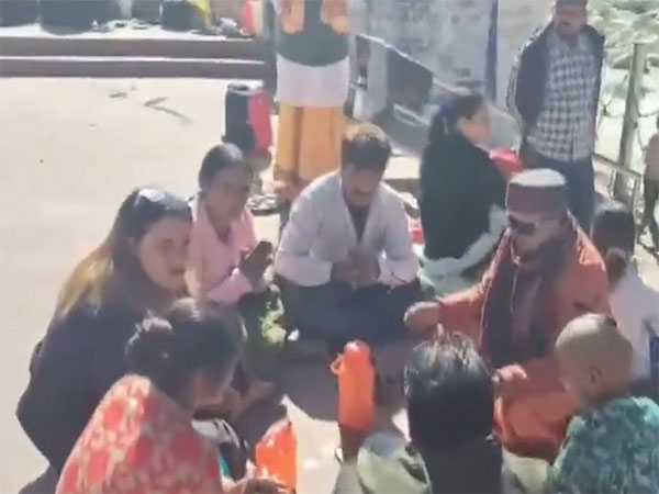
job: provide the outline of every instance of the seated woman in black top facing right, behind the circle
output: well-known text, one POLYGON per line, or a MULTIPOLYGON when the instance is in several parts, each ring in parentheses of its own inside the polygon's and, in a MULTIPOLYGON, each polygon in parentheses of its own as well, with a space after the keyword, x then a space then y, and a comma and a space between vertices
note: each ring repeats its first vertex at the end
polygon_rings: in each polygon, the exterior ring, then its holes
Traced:
POLYGON ((489 134, 481 94, 451 97, 431 125, 421 162, 422 279, 437 294, 471 285, 505 227, 505 180, 478 146, 489 134))

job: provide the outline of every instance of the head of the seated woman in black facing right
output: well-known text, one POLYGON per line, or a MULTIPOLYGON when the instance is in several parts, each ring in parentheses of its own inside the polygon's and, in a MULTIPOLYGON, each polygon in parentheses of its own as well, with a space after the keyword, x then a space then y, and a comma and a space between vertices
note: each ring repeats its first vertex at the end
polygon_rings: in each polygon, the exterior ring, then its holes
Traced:
POLYGON ((488 141, 490 112, 482 94, 472 92, 456 94, 435 114, 429 131, 431 144, 455 133, 462 134, 473 144, 488 141))

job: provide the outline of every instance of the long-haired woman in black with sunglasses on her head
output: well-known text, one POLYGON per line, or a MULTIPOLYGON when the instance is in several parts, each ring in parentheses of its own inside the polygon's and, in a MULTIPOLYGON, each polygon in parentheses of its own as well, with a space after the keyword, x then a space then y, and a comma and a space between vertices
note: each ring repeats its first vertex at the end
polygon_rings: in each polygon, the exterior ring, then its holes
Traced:
POLYGON ((57 473, 103 394, 124 374, 124 349, 136 325, 186 293, 191 227, 186 201, 157 188, 136 189, 105 240, 65 282, 16 411, 57 473))

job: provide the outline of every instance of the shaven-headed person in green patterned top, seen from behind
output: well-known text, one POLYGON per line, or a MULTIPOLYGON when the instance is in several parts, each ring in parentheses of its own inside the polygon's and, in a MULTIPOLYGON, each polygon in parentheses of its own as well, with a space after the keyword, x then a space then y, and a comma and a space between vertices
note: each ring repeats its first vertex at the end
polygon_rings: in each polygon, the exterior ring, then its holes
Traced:
POLYGON ((659 492, 659 406, 629 396, 633 350, 615 321, 578 317, 556 356, 581 407, 551 468, 556 492, 659 492))

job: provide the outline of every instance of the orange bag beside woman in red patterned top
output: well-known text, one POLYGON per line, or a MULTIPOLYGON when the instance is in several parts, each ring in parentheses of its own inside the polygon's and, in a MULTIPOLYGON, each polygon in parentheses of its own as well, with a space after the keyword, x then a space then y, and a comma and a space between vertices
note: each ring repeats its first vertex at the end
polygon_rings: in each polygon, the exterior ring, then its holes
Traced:
POLYGON ((298 484, 298 440, 290 420, 272 425, 256 445, 256 476, 270 479, 293 492, 298 484))

